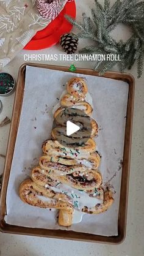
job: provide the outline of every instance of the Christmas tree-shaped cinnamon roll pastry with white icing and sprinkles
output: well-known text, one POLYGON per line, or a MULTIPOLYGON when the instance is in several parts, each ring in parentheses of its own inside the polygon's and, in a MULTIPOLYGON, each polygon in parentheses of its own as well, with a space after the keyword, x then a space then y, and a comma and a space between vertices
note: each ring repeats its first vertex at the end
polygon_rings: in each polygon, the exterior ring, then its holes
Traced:
MULTIPOLYGON (((20 198, 24 203, 40 208, 56 208, 59 209, 59 225, 69 227, 73 223, 74 209, 83 211, 88 214, 99 214, 107 211, 113 203, 112 192, 107 190, 104 192, 102 185, 102 176, 98 171, 101 157, 96 151, 96 143, 93 137, 98 135, 98 124, 90 118, 92 124, 91 138, 84 145, 76 145, 76 141, 72 138, 70 145, 63 146, 57 141, 59 132, 65 126, 65 122, 69 115, 73 114, 73 108, 69 112, 69 107, 77 107, 82 109, 85 114, 92 113, 92 106, 85 101, 87 94, 87 85, 82 78, 72 78, 68 81, 67 92, 60 100, 61 107, 54 113, 56 127, 52 130, 52 138, 54 140, 46 140, 42 145, 42 151, 45 154, 39 159, 39 166, 34 167, 31 172, 31 179, 23 181, 20 185, 20 198), (60 112, 65 109, 66 115, 60 118, 60 112), (72 114, 71 114, 72 113, 72 114), (67 191, 61 191, 59 186, 65 189, 69 187, 76 189, 88 200, 100 201, 94 203, 92 207, 87 203, 78 208, 76 202, 68 194, 67 191)), ((71 108, 70 108, 71 109, 71 108)), ((86 118, 86 115, 79 114, 77 121, 86 118)), ((86 134, 76 134, 77 138, 86 136, 86 134)), ((69 138, 70 140, 70 138, 69 138)), ((71 191, 71 190, 70 190, 71 191)), ((77 198, 78 195, 74 194, 77 198)), ((78 199, 77 199, 78 200, 78 199)), ((95 201, 95 202, 96 202, 95 201)))

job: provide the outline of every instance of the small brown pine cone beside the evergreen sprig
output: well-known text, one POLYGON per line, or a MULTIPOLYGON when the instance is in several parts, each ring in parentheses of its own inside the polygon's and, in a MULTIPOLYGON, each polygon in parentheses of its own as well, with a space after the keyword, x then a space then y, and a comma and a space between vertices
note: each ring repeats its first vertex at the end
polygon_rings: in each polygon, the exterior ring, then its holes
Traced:
POLYGON ((71 55, 75 53, 78 45, 78 38, 73 33, 67 33, 60 37, 60 45, 62 46, 65 53, 71 55))

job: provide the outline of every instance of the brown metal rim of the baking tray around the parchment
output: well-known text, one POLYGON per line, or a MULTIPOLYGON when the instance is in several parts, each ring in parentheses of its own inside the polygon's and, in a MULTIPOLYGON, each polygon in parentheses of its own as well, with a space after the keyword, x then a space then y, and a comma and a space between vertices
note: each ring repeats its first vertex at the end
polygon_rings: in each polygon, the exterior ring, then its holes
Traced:
MULTIPOLYGON (((116 80, 123 80, 129 84, 128 107, 126 117, 126 129, 124 137, 124 153, 123 153, 123 168, 121 176, 121 192, 120 206, 118 213, 118 236, 99 236, 87 233, 79 233, 65 230, 46 230, 41 228, 26 228, 6 224, 4 216, 6 214, 6 192, 9 182, 10 168, 12 164, 13 151, 15 148, 16 134, 21 114, 21 106, 23 103, 23 92, 25 83, 26 65, 34 67, 43 67, 46 69, 62 70, 68 72, 68 67, 48 66, 45 64, 23 64, 20 67, 18 74, 18 83, 16 86, 15 103, 13 106, 12 122, 9 134, 9 143, 7 145, 7 155, 5 159, 4 175, 2 180, 2 190, 0 198, 0 230, 5 233, 16 233, 21 235, 46 236, 51 238, 74 239, 79 241, 91 241, 97 243, 121 243, 126 235, 126 216, 128 207, 128 187, 129 187, 129 167, 131 159, 131 138, 132 138, 132 118, 134 110, 134 78, 132 75, 119 72, 107 72, 103 77, 116 80)), ((98 72, 89 69, 77 69, 76 73, 98 76, 98 72)))

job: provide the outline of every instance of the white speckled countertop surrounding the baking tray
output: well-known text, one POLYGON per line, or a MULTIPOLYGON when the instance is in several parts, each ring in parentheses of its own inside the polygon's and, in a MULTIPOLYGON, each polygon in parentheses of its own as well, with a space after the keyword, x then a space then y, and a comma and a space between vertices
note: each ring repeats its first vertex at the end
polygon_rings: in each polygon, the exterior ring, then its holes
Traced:
MULTIPOLYGON (((85 10, 84 5, 80 6, 78 0, 77 13, 81 15, 85 10)), ((92 6, 92 0, 88 1, 88 6, 92 6)), ((86 12, 86 10, 85 10, 86 12)), ((128 37, 128 31, 123 27, 115 29, 115 36, 120 39, 123 35, 124 39, 128 37)), ((80 41, 81 45, 88 43, 80 41)), ((17 79, 18 69, 24 62, 24 54, 41 53, 41 54, 62 54, 60 46, 54 46, 41 51, 21 51, 13 61, 11 61, 2 71, 9 72, 17 79)), ((50 62, 45 62, 49 64, 50 62)), ((57 61, 51 64, 70 66, 70 62, 57 61)), ((92 68, 93 62, 74 62, 76 67, 92 68)), ((65 241, 60 239, 35 238, 20 235, 7 235, 0 233, 0 255, 2 256, 142 256, 144 255, 143 230, 144 230, 144 201, 143 201, 143 183, 144 183, 144 73, 142 78, 137 79, 136 65, 132 67, 132 75, 135 77, 135 107, 134 107, 134 125, 132 135, 132 156, 131 156, 131 175, 129 186, 129 203, 128 203, 128 224, 127 235, 123 244, 118 246, 84 243, 76 241, 65 241)), ((0 121, 8 116, 11 118, 14 94, 9 97, 0 97, 3 110, 0 114, 0 121)), ((10 125, 1 127, 0 129, 0 153, 5 154, 7 148, 7 140, 9 136, 10 125)), ((0 159, 0 173, 4 167, 4 159, 0 159)))

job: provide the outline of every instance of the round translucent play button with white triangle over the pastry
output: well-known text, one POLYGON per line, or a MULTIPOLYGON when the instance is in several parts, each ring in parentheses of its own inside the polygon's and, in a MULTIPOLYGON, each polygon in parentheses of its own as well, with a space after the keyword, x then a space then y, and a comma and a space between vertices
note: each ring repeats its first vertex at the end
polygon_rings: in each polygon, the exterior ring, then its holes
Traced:
POLYGON ((94 121, 84 111, 60 108, 54 117, 51 136, 63 146, 82 146, 92 137, 94 121))

